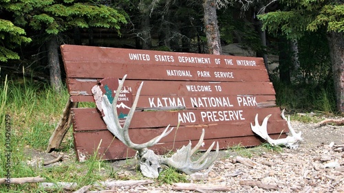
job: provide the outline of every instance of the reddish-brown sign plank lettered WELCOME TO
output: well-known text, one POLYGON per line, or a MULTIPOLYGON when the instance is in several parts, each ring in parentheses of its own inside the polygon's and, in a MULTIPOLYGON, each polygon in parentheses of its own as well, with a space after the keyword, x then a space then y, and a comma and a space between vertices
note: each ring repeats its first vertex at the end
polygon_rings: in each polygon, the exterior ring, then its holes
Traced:
MULTIPOLYGON (((136 94, 141 80, 125 80, 125 87, 136 94)), ((94 80, 67 80, 71 95, 92 95, 94 80)), ((146 80, 140 95, 275 95, 271 82, 191 82, 146 80), (166 87, 168 85, 168 87, 166 87), (221 91, 219 91, 221 89, 221 91)))

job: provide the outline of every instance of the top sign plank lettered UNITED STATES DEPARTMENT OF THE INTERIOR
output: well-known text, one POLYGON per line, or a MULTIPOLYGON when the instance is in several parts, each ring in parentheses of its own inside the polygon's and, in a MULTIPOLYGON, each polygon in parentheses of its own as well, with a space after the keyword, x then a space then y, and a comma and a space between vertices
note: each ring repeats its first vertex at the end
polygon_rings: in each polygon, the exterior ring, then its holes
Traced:
MULTIPOLYGON (((121 49, 110 47, 92 47, 61 45, 63 63, 96 63, 95 68, 103 68, 102 63, 169 65, 197 67, 226 67, 238 69, 265 69, 263 58, 226 56, 213 54, 193 54, 180 52, 160 52, 143 49, 121 49), (164 58, 162 60, 162 58, 164 58), (193 60, 195 59, 195 60, 193 60)), ((78 71, 78 69, 71 69, 78 71)), ((91 74, 92 71, 89 71, 91 74)))

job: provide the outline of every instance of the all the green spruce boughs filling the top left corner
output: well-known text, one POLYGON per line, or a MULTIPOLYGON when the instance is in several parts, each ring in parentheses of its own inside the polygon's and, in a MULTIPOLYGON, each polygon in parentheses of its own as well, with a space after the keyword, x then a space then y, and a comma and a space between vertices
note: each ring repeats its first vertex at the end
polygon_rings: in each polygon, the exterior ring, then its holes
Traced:
POLYGON ((125 16, 101 1, 1 1, 0 61, 19 59, 16 47, 31 41, 25 34, 34 38, 38 37, 36 34, 45 34, 35 40, 36 44, 44 43, 47 34, 61 34, 73 27, 112 28, 120 34, 120 25, 127 23, 125 16))

